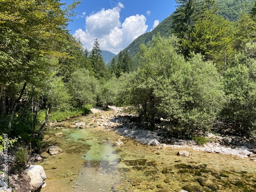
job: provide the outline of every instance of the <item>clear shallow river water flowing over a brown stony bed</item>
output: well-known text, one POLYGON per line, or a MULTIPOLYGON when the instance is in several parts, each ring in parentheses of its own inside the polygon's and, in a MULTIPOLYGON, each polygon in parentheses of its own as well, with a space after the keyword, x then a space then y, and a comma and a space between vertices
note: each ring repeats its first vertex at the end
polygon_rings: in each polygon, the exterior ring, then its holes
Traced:
POLYGON ((124 137, 123 145, 116 146, 120 136, 96 124, 66 128, 79 121, 94 123, 89 115, 48 131, 45 144, 57 145, 63 153, 42 154, 38 164, 45 169, 47 187, 40 191, 256 191, 256 162, 249 159, 191 149, 183 149, 191 156, 182 157, 177 156, 181 148, 148 146, 124 137), (55 137, 58 132, 64 136, 55 137))

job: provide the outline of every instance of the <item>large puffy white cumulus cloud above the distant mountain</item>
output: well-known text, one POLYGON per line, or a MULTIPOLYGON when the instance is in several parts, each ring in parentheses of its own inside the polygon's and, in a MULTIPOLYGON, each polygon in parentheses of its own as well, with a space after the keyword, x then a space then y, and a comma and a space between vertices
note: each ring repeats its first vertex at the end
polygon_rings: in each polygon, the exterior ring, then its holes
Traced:
POLYGON ((98 39, 101 50, 119 53, 139 35, 147 30, 144 15, 132 15, 120 22, 120 11, 124 5, 118 3, 113 9, 101 9, 86 17, 85 30, 78 29, 73 34, 79 38, 84 48, 91 50, 95 38, 98 39))

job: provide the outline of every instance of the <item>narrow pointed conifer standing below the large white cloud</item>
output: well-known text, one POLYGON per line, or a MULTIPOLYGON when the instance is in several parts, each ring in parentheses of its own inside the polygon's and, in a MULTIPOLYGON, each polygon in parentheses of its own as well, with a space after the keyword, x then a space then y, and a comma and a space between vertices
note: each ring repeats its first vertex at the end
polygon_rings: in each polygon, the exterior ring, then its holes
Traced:
POLYGON ((99 47, 98 39, 96 38, 94 41, 93 49, 89 56, 89 63, 94 72, 94 76, 99 79, 106 76, 106 67, 101 56, 101 50, 99 47))

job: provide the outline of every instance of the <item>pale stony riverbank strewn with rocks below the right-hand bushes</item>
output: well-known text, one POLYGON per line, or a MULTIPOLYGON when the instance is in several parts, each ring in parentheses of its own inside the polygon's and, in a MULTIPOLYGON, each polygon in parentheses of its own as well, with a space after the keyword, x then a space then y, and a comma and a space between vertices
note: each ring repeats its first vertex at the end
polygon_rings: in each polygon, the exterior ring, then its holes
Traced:
MULTIPOLYGON (((247 142, 244 138, 208 133, 205 136, 208 142, 200 146, 194 140, 170 138, 167 136, 166 130, 161 128, 155 131, 141 129, 137 122, 132 121, 134 115, 125 112, 124 108, 112 107, 111 109, 113 112, 104 116, 97 115, 100 110, 93 110, 97 112, 94 116, 94 122, 101 127, 105 127, 105 129, 117 132, 125 137, 134 138, 141 143, 158 147, 188 148, 206 153, 227 154, 237 158, 249 157, 256 162, 256 154, 253 154, 255 143, 247 142)), ((157 126, 161 127, 161 124, 157 126)))

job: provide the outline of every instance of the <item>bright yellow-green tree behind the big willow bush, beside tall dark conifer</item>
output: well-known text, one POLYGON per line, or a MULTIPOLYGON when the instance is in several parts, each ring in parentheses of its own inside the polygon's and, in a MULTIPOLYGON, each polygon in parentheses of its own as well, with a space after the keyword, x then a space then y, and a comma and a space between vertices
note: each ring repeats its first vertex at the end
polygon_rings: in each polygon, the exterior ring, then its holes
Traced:
POLYGON ((231 65, 233 45, 233 23, 210 12, 203 20, 195 22, 190 40, 182 41, 182 46, 190 53, 201 53, 205 60, 214 61, 219 71, 225 71, 231 65))

